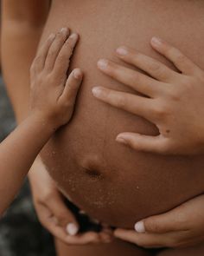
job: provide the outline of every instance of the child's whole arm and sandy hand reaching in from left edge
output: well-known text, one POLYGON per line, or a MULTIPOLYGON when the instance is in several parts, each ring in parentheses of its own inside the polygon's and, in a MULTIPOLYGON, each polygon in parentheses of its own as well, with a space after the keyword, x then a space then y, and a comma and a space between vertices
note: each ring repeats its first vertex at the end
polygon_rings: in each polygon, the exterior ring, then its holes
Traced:
POLYGON ((29 117, 0 145, 0 214, 22 185, 35 157, 54 131, 67 123, 80 88, 82 73, 67 69, 78 36, 67 29, 51 35, 31 67, 29 117), (64 36, 66 34, 66 41, 64 36))

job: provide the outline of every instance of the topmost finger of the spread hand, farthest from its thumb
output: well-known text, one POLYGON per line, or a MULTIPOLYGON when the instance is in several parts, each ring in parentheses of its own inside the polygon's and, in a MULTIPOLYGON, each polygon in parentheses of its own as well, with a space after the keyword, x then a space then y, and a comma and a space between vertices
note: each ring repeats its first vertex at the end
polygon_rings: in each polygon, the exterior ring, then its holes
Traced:
POLYGON ((190 61, 187 56, 184 56, 179 49, 164 42, 162 39, 153 37, 151 39, 151 45, 156 51, 173 62, 175 67, 182 71, 182 73, 191 75, 194 73, 194 70, 199 69, 194 62, 190 61))

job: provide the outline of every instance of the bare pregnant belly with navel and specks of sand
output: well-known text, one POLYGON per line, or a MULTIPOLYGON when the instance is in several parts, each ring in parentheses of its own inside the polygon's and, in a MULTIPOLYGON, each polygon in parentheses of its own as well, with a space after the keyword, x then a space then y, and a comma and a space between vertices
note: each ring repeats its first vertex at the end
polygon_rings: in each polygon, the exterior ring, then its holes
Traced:
POLYGON ((156 135, 157 130, 138 116, 98 102, 91 93, 95 85, 129 90, 96 68, 100 57, 118 62, 114 49, 119 45, 170 66, 150 49, 155 35, 174 43, 204 68, 203 10, 202 1, 54 1, 41 41, 62 26, 77 31, 80 43, 71 68, 83 69, 85 79, 72 121, 41 155, 61 191, 92 217, 132 227, 136 220, 203 193, 203 155, 159 156, 118 145, 115 138, 120 132, 156 135))

